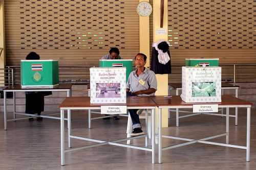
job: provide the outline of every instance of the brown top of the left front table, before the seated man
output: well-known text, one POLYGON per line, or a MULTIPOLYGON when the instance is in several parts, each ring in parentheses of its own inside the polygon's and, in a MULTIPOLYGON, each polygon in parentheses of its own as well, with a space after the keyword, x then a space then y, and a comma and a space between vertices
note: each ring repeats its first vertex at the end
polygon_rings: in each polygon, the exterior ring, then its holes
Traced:
POLYGON ((126 104, 91 104, 90 97, 66 98, 58 107, 100 107, 100 106, 127 106, 127 107, 156 107, 155 102, 149 96, 127 96, 126 104))

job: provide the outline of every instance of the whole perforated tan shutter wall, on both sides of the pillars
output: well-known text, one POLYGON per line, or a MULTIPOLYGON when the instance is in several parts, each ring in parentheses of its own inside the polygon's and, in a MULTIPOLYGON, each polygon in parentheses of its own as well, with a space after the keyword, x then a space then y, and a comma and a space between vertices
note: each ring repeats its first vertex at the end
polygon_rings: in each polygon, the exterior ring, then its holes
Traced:
MULTIPOLYGON (((139 52, 137 4, 134 0, 6 0, 7 65, 19 65, 31 51, 41 59, 59 59, 60 65, 98 65, 112 46, 119 47, 123 58, 133 58, 139 52)), ((249 0, 168 0, 172 64, 184 65, 185 58, 256 63, 255 8, 249 0)), ((152 44, 153 15, 150 22, 152 44)), ((173 67, 169 81, 178 67, 173 67)), ((246 72, 254 72, 251 69, 246 72)), ((223 77, 230 80, 225 72, 229 71, 223 71, 223 77)), ((250 80, 243 75, 238 78, 250 80)))

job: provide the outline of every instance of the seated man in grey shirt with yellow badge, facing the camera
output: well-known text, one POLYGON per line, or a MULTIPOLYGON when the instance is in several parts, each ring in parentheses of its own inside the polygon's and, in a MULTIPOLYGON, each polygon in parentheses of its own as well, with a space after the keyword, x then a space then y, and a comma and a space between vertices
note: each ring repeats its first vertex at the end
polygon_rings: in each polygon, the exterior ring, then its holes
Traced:
MULTIPOLYGON (((154 95, 157 90, 157 79, 153 71, 145 68, 146 55, 139 53, 135 56, 136 70, 132 71, 126 83, 126 95, 154 95)), ((138 109, 129 109, 133 122, 133 132, 131 136, 142 135, 138 109)))

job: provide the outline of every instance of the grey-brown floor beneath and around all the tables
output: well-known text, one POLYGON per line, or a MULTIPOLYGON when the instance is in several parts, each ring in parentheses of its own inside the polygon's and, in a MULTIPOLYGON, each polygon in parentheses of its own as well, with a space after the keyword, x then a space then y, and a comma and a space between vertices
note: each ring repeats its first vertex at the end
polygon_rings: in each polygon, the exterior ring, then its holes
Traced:
MULTIPOLYGON (((230 109, 230 112, 233 113, 234 110, 230 109)), ((8 122, 8 130, 5 131, 4 115, 1 112, 0 169, 256 169, 255 112, 251 111, 250 162, 246 162, 245 150, 202 143, 163 151, 162 164, 151 163, 151 152, 103 145, 66 153, 65 166, 60 166, 59 120, 44 118, 42 122, 29 122, 27 119, 8 122)), ((74 135, 102 140, 126 136, 127 117, 121 117, 120 120, 92 120, 92 129, 88 129, 87 112, 73 112, 72 116, 74 135)), ((246 145, 246 109, 239 109, 238 120, 238 126, 234 126, 234 118, 230 117, 230 144, 246 145)), ((143 119, 142 124, 144 126, 143 119)), ((175 125, 175 114, 172 114, 169 127, 163 128, 163 134, 199 139, 225 132, 226 119, 197 115, 180 119, 178 128, 175 125)), ((212 141, 225 142, 225 137, 212 141)), ((163 146, 181 142, 163 139, 163 146)), ((67 144, 66 140, 66 147, 67 144)), ((86 144, 90 142, 72 139, 73 147, 86 144)), ((144 140, 135 139, 131 144, 143 145, 144 140)))

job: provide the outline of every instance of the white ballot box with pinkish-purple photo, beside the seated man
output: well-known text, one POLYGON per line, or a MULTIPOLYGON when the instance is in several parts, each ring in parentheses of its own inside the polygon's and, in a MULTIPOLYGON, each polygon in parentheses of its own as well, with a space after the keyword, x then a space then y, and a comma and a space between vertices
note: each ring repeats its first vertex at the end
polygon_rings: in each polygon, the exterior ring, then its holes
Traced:
POLYGON ((91 104, 126 104, 126 68, 90 68, 91 104))

